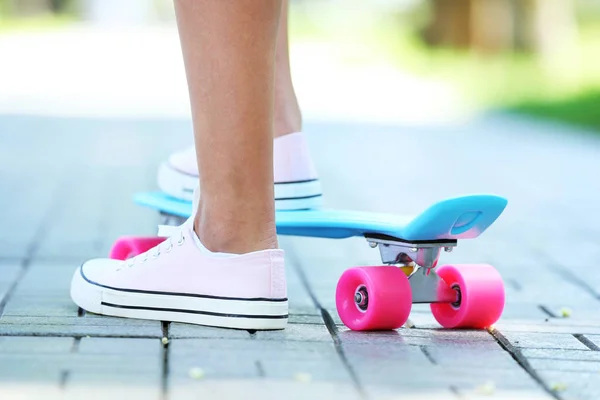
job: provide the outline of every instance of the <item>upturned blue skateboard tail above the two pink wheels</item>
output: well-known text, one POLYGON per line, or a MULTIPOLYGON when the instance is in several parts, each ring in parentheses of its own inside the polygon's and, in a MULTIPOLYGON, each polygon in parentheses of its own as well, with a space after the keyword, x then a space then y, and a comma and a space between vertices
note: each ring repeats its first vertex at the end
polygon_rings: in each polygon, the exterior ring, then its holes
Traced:
POLYGON ((473 239, 498 219, 508 201, 495 195, 470 195, 443 200, 414 218, 403 239, 473 239))

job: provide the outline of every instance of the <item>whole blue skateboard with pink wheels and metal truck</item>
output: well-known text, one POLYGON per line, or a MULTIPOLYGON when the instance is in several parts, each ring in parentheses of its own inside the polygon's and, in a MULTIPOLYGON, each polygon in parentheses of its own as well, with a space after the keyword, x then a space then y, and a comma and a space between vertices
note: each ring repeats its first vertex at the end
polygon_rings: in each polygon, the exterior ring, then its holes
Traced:
MULTIPOLYGON (((138 193, 138 205, 157 210, 164 225, 180 225, 192 204, 161 192, 138 193)), ((277 211, 279 235, 328 239, 364 237, 383 265, 352 267, 340 277, 336 308, 350 329, 387 330, 408 320, 412 304, 429 303, 444 328, 485 329, 504 309, 502 277, 488 264, 438 266, 442 252, 480 236, 502 214, 507 200, 480 194, 445 199, 416 216, 338 209, 277 211)), ((140 254, 164 237, 123 237, 111 258, 140 254)))

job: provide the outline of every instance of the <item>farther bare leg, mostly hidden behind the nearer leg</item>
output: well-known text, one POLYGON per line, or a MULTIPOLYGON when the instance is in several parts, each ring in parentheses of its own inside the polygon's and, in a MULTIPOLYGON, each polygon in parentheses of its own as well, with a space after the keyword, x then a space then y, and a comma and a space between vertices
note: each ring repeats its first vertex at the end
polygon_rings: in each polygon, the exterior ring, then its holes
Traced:
POLYGON ((281 7, 275 68, 275 115, 273 124, 275 137, 278 137, 302 130, 302 114, 294 92, 290 72, 288 0, 283 0, 281 7))

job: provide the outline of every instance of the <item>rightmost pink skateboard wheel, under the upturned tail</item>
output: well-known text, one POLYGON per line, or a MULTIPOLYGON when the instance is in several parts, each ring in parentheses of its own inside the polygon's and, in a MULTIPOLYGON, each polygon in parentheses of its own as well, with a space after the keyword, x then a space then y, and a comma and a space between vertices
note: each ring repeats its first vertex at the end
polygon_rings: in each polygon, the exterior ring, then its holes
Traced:
POLYGON ((484 329, 504 310, 504 283, 487 264, 444 265, 438 275, 459 292, 456 303, 433 303, 431 312, 444 328, 484 329))

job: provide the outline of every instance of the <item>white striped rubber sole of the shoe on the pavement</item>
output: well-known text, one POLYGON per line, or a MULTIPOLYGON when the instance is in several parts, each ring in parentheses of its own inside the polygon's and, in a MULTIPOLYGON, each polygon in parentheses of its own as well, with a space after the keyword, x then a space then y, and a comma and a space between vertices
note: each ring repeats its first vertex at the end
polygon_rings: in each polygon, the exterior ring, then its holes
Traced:
POLYGON ((109 288, 87 280, 81 267, 73 275, 71 298, 86 311, 115 317, 250 330, 284 329, 288 321, 287 299, 239 299, 109 288))

